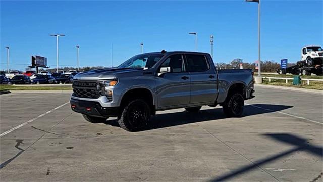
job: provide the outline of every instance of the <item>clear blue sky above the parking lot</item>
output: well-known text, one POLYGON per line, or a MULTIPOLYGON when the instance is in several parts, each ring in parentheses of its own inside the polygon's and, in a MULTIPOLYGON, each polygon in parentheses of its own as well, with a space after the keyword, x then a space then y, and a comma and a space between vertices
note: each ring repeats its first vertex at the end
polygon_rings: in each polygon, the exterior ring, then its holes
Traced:
MULTIPOLYGON (((261 60, 300 60, 304 45, 323 44, 323 1, 261 0, 261 60)), ((31 55, 59 65, 118 66, 144 52, 194 51, 210 53, 214 62, 258 59, 258 4, 239 1, 1 1, 0 70, 24 70, 31 55)))

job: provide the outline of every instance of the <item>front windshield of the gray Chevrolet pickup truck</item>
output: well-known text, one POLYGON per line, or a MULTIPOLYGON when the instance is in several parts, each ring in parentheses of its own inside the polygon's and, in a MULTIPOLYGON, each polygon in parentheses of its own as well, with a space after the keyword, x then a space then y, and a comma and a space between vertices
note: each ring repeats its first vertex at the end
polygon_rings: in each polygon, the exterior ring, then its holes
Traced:
POLYGON ((122 63, 118 68, 151 68, 163 56, 162 54, 137 55, 122 63))

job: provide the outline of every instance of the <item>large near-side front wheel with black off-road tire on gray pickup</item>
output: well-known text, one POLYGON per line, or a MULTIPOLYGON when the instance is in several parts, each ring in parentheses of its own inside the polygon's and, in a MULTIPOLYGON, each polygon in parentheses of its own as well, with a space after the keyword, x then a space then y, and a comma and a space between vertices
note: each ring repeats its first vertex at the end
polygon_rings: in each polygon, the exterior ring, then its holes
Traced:
POLYGON ((135 99, 128 102, 118 117, 120 127, 127 131, 140 131, 147 127, 151 109, 146 101, 135 99))

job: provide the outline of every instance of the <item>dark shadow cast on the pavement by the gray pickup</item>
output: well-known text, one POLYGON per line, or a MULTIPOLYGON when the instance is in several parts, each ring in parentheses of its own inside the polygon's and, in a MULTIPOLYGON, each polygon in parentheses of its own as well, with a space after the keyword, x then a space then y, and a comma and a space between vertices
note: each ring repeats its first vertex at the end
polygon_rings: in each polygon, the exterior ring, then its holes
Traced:
MULTIPOLYGON (((272 113, 276 111, 282 111, 293 106, 285 105, 272 105, 272 104, 251 104, 244 107, 244 113, 241 116, 252 116, 257 114, 272 113)), ((202 121, 211 121, 217 119, 225 119, 227 116, 223 113, 222 108, 204 109, 197 113, 189 113, 187 111, 176 112, 176 113, 161 113, 152 116, 150 119, 149 126, 145 130, 165 128, 171 126, 178 126, 202 121)), ((117 126, 116 120, 109 120, 104 122, 111 126, 117 126)))

